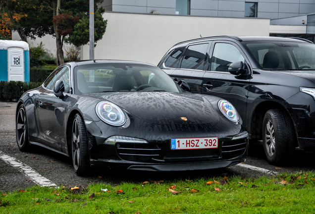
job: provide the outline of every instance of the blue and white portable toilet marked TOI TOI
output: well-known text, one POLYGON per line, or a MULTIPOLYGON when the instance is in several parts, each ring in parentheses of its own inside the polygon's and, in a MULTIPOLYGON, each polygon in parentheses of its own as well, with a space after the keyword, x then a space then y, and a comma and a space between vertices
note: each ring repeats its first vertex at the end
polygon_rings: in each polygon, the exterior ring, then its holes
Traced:
POLYGON ((0 81, 30 81, 30 48, 26 42, 0 40, 0 81))

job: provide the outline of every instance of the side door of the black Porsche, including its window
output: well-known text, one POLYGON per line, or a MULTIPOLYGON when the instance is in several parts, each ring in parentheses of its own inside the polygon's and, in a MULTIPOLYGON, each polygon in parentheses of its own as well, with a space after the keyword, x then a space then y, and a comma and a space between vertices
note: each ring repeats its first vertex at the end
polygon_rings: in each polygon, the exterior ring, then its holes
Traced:
POLYGON ((55 149, 66 146, 64 115, 69 100, 59 99, 54 95, 53 87, 57 80, 63 81, 64 94, 70 94, 69 67, 64 66, 52 73, 45 81, 36 101, 39 131, 46 140, 44 143, 55 149))

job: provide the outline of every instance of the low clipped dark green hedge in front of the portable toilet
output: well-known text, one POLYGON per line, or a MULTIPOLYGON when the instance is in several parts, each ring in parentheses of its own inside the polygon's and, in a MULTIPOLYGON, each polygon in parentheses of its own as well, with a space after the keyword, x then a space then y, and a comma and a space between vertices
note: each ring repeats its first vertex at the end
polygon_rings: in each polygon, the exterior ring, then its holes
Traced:
POLYGON ((41 82, 0 81, 0 100, 17 101, 24 92, 41 85, 41 82))

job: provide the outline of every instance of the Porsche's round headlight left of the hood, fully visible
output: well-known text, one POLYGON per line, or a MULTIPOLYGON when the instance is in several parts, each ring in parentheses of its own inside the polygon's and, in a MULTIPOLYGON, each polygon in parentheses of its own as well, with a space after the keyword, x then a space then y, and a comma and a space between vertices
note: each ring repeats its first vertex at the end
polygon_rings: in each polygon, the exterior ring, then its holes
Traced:
POLYGON ((121 126, 126 122, 125 113, 113 103, 102 101, 95 110, 100 119, 109 125, 121 126))

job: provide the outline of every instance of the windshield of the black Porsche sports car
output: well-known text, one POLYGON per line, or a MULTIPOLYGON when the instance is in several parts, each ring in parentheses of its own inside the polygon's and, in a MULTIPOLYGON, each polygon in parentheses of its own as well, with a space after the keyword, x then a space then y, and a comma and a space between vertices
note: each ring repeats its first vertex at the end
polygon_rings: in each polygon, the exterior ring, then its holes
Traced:
POLYGON ((160 68, 132 63, 91 63, 74 69, 75 93, 167 91, 179 86, 160 68))

